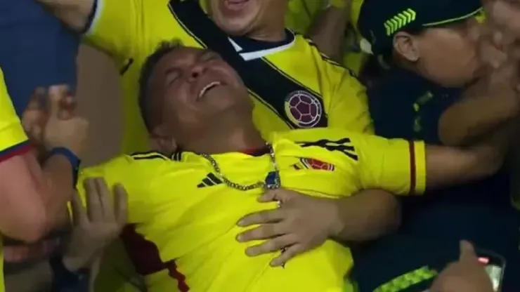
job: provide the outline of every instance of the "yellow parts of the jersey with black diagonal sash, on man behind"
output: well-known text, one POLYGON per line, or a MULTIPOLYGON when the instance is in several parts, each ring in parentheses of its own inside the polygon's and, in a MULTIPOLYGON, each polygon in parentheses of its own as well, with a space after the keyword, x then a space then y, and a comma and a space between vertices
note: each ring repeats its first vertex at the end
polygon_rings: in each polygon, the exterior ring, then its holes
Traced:
MULTIPOLYGON (((148 149, 136 102, 138 76, 145 58, 165 40, 179 39, 186 46, 200 47, 167 4, 168 0, 98 0, 93 22, 85 34, 86 41, 112 55, 120 68, 128 67, 122 76, 123 151, 127 153, 148 149)), ((363 86, 344 68, 320 55, 303 36, 298 35, 290 48, 265 59, 282 74, 321 96, 330 126, 370 131, 372 121, 363 86)), ((265 99, 254 100, 254 119, 264 135, 289 129, 265 99)))

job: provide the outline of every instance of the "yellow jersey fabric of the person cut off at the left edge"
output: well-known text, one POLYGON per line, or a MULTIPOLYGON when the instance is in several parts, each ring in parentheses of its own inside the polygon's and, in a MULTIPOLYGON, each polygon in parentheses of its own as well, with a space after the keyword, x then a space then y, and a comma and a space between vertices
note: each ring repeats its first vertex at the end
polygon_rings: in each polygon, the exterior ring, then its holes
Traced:
MULTIPOLYGON (((4 72, 0 68, 0 159, 10 151, 27 141, 20 119, 16 115, 13 102, 7 92, 4 72)), ((0 251, 2 243, 0 241, 0 251)), ((0 252, 0 292, 4 292, 4 254, 0 252)))

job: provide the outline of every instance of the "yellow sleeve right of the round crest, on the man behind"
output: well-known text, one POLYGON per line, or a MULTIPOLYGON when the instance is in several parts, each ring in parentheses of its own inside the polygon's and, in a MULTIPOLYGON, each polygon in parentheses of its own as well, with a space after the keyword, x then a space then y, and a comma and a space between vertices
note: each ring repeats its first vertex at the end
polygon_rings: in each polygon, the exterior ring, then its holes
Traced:
POLYGON ((374 133, 365 86, 344 67, 331 66, 329 71, 332 93, 328 105, 329 126, 374 133))

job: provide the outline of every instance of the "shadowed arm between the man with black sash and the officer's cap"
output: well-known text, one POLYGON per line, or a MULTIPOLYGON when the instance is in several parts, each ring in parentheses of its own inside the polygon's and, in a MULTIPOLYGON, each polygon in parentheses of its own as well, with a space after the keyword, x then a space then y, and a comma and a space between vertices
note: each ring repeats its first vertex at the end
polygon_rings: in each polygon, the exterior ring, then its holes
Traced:
POLYGON ((313 21, 308 36, 318 49, 332 60, 341 62, 351 0, 329 0, 329 5, 313 21))

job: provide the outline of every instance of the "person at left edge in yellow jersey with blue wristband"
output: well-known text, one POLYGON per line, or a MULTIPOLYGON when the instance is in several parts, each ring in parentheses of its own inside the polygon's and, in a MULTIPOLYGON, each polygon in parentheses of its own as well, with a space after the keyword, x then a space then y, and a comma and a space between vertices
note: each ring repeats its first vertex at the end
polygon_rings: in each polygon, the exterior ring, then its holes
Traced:
MULTIPOLYGON (((61 119, 60 87, 50 90, 50 114, 39 125, 45 152, 42 166, 30 146, 27 135, 15 114, 0 69, 0 233, 25 242, 35 242, 46 235, 63 217, 70 191, 60 192, 58 182, 72 183, 79 166, 86 138, 86 121, 80 117, 61 119)), ((30 119, 30 117, 27 117, 30 119)), ((0 259, 3 263, 4 260, 0 259)), ((3 269, 0 291, 4 291, 3 269)))

